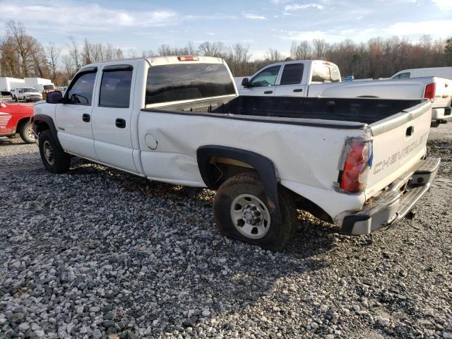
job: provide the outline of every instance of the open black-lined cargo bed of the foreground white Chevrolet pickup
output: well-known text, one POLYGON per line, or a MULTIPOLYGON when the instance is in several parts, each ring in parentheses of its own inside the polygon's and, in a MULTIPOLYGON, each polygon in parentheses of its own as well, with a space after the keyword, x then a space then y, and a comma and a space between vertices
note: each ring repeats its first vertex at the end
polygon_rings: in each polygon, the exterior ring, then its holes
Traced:
MULTIPOLYGON (((374 98, 327 97, 255 97, 242 95, 233 98, 201 100, 165 107, 152 111, 184 112, 194 114, 224 114, 252 117, 281 117, 350 121, 374 124, 422 103, 424 100, 395 100, 374 98)), ((144 109, 147 110, 147 109, 144 109)), ((359 124, 356 125, 357 127, 359 124)), ((348 126, 350 127, 350 126, 348 126)))

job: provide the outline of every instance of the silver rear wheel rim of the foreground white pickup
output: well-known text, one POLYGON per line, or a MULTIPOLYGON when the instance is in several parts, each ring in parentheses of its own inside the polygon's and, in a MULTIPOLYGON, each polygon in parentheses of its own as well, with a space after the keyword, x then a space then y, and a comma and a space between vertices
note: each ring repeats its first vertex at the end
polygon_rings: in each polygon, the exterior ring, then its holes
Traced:
POLYGON ((231 219, 237 231, 249 239, 261 239, 270 230, 270 211, 253 194, 240 194, 234 198, 231 219))

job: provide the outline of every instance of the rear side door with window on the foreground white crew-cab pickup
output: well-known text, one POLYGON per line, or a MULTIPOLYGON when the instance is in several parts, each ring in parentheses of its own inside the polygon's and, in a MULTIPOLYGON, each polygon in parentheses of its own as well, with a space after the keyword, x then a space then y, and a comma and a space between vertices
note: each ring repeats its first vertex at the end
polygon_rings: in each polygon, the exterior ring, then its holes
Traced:
POLYGON ((136 173, 131 141, 131 115, 136 61, 104 66, 93 109, 94 147, 100 162, 136 173))

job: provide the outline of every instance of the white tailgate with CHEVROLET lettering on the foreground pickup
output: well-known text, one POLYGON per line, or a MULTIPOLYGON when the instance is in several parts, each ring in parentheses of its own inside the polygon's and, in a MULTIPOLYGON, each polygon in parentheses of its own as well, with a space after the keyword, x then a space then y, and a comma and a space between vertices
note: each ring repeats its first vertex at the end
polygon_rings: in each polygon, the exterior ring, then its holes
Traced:
POLYGON ((432 104, 426 101, 370 125, 373 158, 366 198, 379 194, 424 156, 431 119, 432 104))

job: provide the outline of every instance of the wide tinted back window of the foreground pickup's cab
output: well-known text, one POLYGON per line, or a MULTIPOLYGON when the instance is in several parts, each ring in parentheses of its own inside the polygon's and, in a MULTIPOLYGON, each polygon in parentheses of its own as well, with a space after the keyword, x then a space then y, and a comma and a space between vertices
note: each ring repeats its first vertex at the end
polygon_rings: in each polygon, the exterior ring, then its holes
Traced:
POLYGON ((148 71, 145 103, 235 94, 234 84, 223 64, 174 64, 152 66, 148 71))

